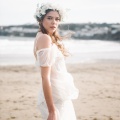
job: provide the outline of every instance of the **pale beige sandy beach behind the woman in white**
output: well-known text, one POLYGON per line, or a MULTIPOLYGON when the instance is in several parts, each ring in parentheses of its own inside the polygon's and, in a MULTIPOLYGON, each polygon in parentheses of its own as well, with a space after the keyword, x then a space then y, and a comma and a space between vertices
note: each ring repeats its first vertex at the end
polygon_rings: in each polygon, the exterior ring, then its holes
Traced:
MULTIPOLYGON (((120 120, 120 61, 67 64, 80 94, 77 120, 120 120)), ((42 120, 40 73, 34 65, 0 66, 0 120, 42 120)))

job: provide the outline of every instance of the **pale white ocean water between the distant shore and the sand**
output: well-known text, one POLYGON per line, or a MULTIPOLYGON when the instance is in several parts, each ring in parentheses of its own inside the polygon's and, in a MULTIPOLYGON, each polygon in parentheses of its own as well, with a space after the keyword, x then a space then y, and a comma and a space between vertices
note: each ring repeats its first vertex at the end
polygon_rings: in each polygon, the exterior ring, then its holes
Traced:
MULTIPOLYGON (((120 60, 120 42, 103 40, 64 40, 71 53, 66 63, 120 60)), ((0 65, 35 65, 34 38, 0 37, 0 65)))

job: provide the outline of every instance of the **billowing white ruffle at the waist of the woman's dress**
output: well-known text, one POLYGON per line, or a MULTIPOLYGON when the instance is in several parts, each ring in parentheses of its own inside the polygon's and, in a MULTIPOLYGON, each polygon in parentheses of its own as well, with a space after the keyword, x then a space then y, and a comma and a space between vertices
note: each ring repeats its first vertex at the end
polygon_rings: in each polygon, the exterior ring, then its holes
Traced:
POLYGON ((62 101, 77 99, 79 90, 75 87, 71 74, 59 76, 59 79, 52 79, 53 99, 62 101))

